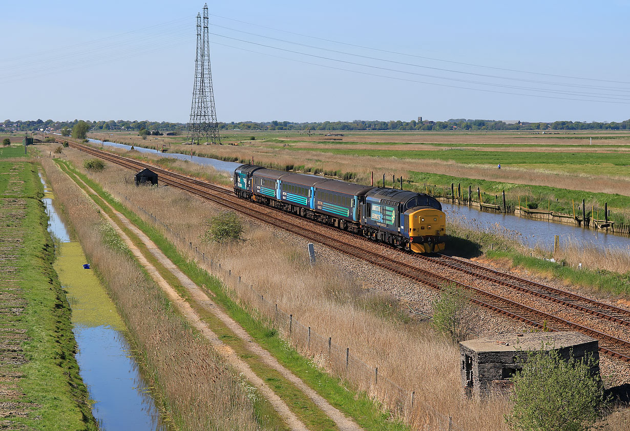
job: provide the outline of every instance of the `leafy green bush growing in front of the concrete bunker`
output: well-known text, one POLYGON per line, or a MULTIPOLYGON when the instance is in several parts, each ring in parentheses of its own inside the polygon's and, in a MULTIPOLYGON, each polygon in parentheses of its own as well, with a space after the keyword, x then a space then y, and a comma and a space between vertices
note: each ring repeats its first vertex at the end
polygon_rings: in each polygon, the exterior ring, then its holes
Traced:
POLYGON ((513 377, 513 411, 506 416, 514 430, 587 431, 595 427, 605 405, 604 390, 591 356, 562 359, 557 350, 530 352, 513 377))

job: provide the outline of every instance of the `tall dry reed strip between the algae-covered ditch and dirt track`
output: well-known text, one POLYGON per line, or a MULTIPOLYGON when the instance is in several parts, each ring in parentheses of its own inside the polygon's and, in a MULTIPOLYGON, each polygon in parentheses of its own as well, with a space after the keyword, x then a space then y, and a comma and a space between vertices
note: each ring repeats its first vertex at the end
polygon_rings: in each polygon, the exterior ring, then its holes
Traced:
POLYGON ((120 247, 104 245, 95 205, 43 159, 43 167, 89 260, 106 280, 145 375, 183 430, 256 430, 251 389, 173 311, 157 286, 120 247), (200 408, 202 406, 202 408, 200 408))

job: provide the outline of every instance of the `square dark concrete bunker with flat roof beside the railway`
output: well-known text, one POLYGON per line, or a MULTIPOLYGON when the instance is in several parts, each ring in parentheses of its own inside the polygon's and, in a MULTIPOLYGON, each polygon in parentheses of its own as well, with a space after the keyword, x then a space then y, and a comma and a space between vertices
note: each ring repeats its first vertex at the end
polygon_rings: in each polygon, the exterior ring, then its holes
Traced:
MULTIPOLYGON (((532 351, 556 350, 561 358, 591 355, 599 364, 597 340, 580 332, 522 332, 459 343, 462 387, 467 396, 490 395, 512 388, 510 380, 532 351)), ((599 374, 599 365, 591 370, 599 374)))

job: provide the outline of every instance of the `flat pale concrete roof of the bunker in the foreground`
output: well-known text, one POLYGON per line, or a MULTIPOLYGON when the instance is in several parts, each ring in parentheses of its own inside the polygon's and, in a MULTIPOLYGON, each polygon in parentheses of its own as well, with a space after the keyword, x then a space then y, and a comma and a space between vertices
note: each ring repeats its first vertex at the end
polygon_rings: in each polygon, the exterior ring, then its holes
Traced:
POLYGON ((462 341, 460 344, 475 352, 510 352, 517 350, 554 350, 595 341, 580 332, 520 332, 462 341))

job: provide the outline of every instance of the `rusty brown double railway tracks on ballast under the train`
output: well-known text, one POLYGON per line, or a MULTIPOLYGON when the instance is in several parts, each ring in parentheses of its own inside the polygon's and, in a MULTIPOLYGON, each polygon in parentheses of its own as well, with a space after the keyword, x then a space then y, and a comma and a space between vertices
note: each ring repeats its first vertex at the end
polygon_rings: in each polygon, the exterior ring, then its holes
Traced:
POLYGON ((331 249, 396 272, 432 288, 440 289, 445 284, 455 284, 470 291, 471 301, 474 303, 534 327, 586 333, 599 340, 600 351, 604 354, 630 362, 630 342, 626 341, 630 338, 630 311, 628 310, 495 271, 466 260, 444 255, 435 257, 404 254, 357 235, 237 198, 231 190, 214 184, 86 145, 74 142, 70 142, 69 145, 128 169, 138 171, 149 167, 166 184, 197 194, 231 210, 244 213, 308 240, 322 243, 331 249), (418 267, 419 261, 432 269, 418 267), (508 296, 518 296, 519 301, 508 299, 508 296))

